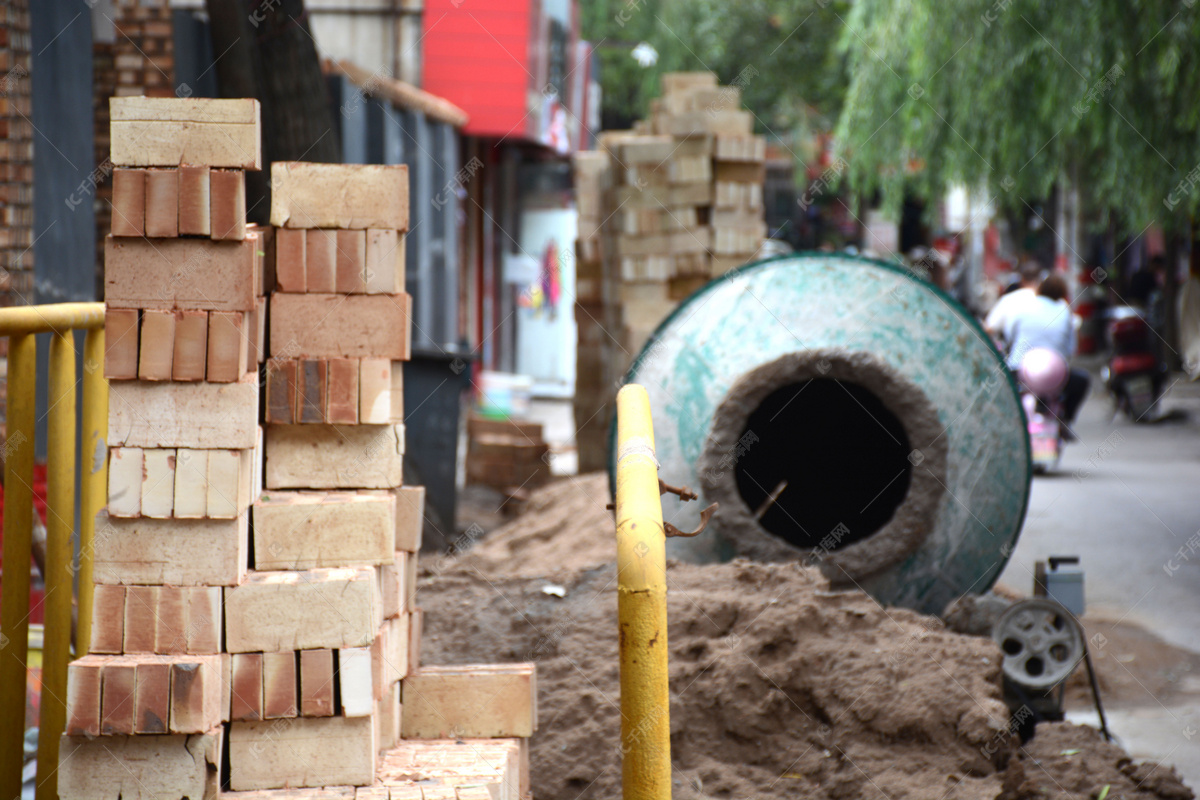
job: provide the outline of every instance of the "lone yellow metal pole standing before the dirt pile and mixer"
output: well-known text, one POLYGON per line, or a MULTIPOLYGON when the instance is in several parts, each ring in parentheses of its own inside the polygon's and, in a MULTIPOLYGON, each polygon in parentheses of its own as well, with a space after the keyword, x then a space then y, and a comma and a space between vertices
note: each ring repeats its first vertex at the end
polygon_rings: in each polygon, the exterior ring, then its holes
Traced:
POLYGON ((646 390, 617 393, 617 616, 625 800, 671 798, 666 536, 646 390))

